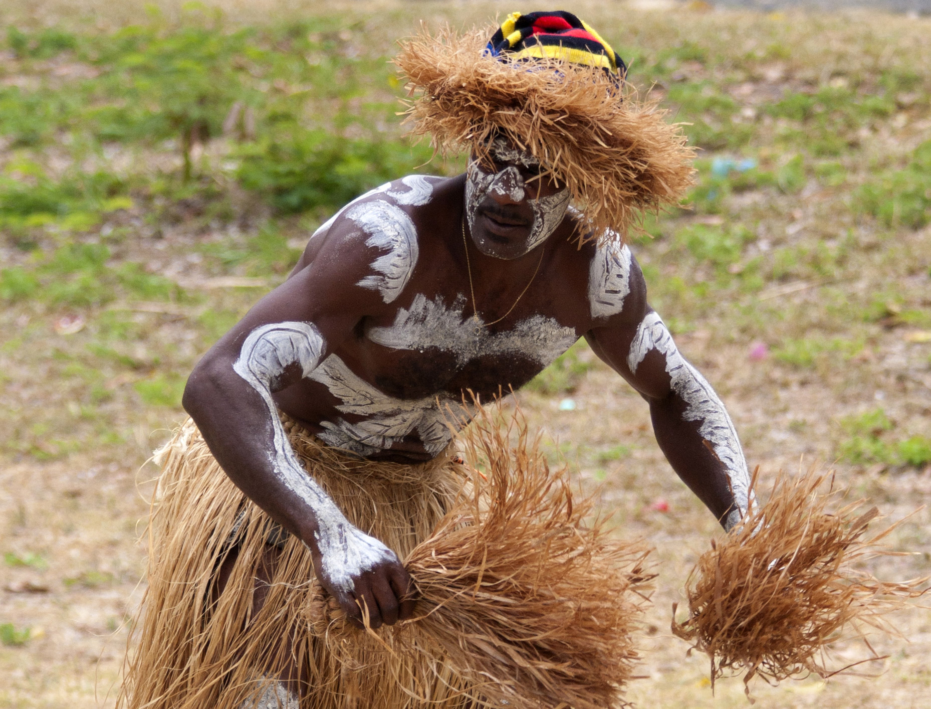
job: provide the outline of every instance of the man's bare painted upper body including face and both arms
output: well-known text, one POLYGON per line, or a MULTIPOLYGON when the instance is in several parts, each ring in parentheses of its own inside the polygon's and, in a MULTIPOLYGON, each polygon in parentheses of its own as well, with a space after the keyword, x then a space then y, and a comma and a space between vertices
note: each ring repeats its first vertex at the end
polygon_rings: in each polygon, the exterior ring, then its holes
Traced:
POLYGON ((365 602, 373 627, 411 616, 412 598, 401 600, 410 577, 307 478, 282 445, 276 407, 360 456, 423 461, 450 440, 442 402, 519 389, 585 337, 649 403, 669 463, 722 525, 746 510, 734 426, 648 305, 630 250, 577 248, 565 189, 534 180, 537 160, 506 139, 492 157, 346 206, 184 392, 223 470, 304 541, 350 618, 361 620, 356 600, 365 602))

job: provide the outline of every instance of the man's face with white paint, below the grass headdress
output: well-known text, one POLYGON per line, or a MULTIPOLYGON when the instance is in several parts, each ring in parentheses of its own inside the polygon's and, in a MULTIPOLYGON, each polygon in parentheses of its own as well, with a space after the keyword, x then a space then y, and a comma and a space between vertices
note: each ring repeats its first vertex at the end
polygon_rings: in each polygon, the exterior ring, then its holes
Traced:
POLYGON ((487 256, 515 259, 542 244, 562 222, 569 190, 555 179, 537 178, 540 162, 495 138, 481 164, 466 170, 466 219, 472 241, 487 256))

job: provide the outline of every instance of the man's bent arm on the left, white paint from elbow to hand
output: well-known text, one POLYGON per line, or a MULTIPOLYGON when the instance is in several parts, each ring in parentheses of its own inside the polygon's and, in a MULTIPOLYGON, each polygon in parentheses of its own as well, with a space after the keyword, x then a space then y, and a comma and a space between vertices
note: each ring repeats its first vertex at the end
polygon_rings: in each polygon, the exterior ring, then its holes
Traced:
POLYGON ((410 577, 304 471, 272 398, 309 375, 364 314, 384 307, 356 285, 370 273, 371 251, 351 249, 358 259, 346 250, 340 259, 321 253, 266 295, 197 364, 183 405, 233 483, 304 541, 318 579, 347 615, 358 623, 364 604, 377 627, 411 615, 412 601, 400 601, 410 577))

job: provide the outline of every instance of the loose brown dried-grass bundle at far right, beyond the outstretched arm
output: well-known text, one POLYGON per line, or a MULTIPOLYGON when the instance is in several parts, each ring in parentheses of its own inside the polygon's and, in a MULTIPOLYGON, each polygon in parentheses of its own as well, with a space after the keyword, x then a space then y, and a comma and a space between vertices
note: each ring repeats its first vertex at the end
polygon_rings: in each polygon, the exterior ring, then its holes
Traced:
POLYGON ((749 696, 755 675, 770 683, 828 677, 882 659, 864 626, 895 632, 885 614, 919 595, 925 579, 890 583, 863 570, 870 558, 895 553, 877 546, 895 525, 868 534, 879 513, 862 511, 862 500, 830 512, 845 492, 833 482, 814 469, 780 473, 768 502, 698 560, 686 589, 689 617, 677 622, 673 605, 672 632, 708 654, 712 686, 725 672, 745 672, 749 696), (829 670, 828 644, 851 632, 870 656, 829 670))

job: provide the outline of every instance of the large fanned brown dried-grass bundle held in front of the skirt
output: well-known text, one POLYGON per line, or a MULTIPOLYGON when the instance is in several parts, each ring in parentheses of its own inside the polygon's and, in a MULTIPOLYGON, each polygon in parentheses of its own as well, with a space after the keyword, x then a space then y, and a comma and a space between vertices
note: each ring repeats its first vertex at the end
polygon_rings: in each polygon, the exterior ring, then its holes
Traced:
MULTIPOLYGON (((549 470, 519 412, 479 410, 462 440, 473 480, 405 561, 417 617, 377 637, 392 654, 433 657, 478 706, 626 705, 647 551, 587 524, 591 500, 549 470)), ((338 653, 346 631, 330 632, 338 653)))

